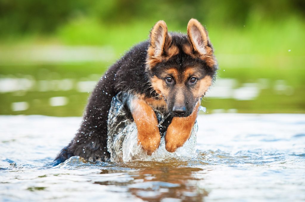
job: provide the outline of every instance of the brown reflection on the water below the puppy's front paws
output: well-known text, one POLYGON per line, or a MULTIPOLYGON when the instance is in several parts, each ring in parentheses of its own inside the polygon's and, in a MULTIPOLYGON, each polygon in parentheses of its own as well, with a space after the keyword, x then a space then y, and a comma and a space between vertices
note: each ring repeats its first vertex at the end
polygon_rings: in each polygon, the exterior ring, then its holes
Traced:
MULTIPOLYGON (((156 162, 155 162, 156 163, 156 162)), ((157 163, 160 164, 160 163, 157 163)), ((143 165, 142 165, 143 166, 143 165)), ((106 173, 127 173, 133 180, 128 182, 105 181, 95 182, 102 185, 116 185, 128 188, 134 196, 151 202, 158 202, 164 198, 176 198, 180 201, 203 201, 208 192, 198 186, 203 180, 205 171, 193 167, 172 167, 154 165, 145 169, 137 166, 138 170, 102 170, 106 173)), ((125 167, 130 167, 125 164, 125 167)))

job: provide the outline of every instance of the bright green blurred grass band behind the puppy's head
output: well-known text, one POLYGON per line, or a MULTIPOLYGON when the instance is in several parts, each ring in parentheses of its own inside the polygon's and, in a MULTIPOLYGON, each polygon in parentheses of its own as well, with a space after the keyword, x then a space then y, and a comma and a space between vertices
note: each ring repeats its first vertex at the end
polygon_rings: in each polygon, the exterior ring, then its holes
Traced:
MULTIPOLYGON (((116 58, 131 46, 148 39, 156 20, 143 19, 127 24, 110 24, 80 17, 60 26, 51 35, 16 35, 0 39, 0 50, 16 44, 63 44, 70 46, 110 46, 116 58)), ((282 21, 253 17, 244 26, 205 24, 222 67, 301 67, 304 63, 305 23, 290 16, 282 21), (290 51, 289 51, 290 50, 290 51)), ((169 31, 186 33, 185 27, 168 22, 169 31)), ((1 62, 1 61, 0 61, 1 62)))

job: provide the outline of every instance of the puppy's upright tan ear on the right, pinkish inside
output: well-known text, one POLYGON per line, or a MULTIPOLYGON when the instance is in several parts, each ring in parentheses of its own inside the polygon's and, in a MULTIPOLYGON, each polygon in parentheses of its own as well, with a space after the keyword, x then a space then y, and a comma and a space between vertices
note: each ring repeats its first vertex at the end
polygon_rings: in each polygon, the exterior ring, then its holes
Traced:
POLYGON ((198 20, 190 19, 188 22, 187 32, 194 51, 200 55, 209 54, 211 45, 208 33, 198 20))

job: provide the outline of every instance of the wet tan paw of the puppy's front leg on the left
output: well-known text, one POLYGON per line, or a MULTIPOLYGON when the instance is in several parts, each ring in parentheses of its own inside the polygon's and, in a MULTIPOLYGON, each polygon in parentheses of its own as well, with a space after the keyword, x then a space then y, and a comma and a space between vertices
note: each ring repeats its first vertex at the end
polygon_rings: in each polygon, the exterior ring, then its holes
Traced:
POLYGON ((159 132, 152 134, 141 135, 138 133, 138 145, 150 156, 152 152, 156 151, 160 145, 161 136, 159 132))

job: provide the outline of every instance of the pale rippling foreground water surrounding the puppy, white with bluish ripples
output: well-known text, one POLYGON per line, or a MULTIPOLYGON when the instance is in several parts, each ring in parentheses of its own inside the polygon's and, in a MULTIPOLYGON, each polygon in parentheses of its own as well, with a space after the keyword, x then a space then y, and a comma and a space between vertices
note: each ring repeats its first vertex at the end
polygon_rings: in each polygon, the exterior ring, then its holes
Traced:
POLYGON ((192 158, 93 164, 76 156, 46 166, 80 122, 79 117, 0 116, 1 199, 305 199, 305 115, 200 115, 192 158))

